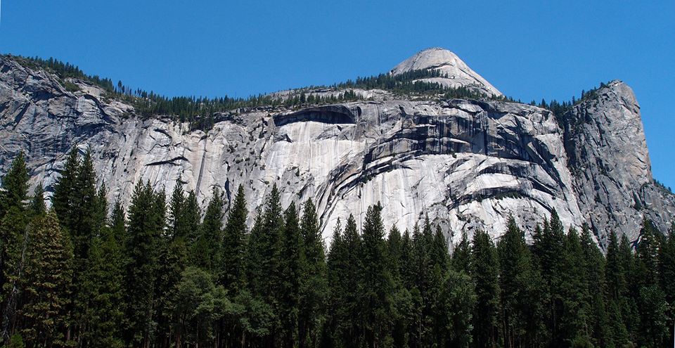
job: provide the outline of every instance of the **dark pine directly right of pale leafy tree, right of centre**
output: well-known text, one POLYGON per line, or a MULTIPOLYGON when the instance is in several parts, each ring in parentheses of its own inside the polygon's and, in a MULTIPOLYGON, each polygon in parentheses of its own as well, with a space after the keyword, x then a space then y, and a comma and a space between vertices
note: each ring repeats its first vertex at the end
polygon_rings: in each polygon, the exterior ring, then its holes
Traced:
POLYGON ((475 282, 474 342, 477 347, 499 347, 499 257, 490 236, 473 236, 471 276, 475 282))

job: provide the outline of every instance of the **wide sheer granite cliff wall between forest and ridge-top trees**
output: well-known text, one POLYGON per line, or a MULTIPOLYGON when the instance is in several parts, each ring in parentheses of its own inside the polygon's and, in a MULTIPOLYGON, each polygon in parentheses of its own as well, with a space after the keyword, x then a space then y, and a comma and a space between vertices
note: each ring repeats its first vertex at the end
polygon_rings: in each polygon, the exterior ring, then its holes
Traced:
POLYGON ((674 212, 652 183, 639 108, 620 82, 565 120, 517 103, 380 91, 375 101, 218 115, 207 134, 141 120, 75 83, 81 91, 71 93, 46 72, 0 58, 0 172, 23 150, 32 184, 43 181, 49 194, 77 145, 93 151, 110 200, 128 202, 139 180, 170 193, 180 176, 204 206, 214 186, 230 198, 243 185, 254 212, 276 183, 283 205, 316 202, 326 238, 338 218, 359 221, 377 202, 387 227, 412 228, 428 214, 454 238, 476 228, 496 237, 509 214, 534 226, 555 209, 567 226, 593 224, 600 243, 612 228, 634 238, 643 214, 665 226, 674 212))

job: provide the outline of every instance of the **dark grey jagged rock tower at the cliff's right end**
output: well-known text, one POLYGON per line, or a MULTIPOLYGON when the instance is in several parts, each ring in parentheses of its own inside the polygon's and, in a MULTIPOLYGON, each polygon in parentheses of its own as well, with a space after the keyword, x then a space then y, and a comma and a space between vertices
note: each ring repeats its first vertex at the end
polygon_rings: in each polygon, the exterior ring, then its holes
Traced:
POLYGON ((643 216, 666 231, 675 200, 653 182, 640 106, 631 88, 610 82, 562 121, 579 207, 596 234, 614 230, 637 238, 643 216))

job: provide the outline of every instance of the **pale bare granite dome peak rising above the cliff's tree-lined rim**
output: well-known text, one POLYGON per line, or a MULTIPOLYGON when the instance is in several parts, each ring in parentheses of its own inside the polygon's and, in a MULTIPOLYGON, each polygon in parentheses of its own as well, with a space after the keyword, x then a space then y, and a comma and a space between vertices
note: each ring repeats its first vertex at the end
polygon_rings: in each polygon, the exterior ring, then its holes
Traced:
POLYGON ((479 91, 487 96, 501 96, 501 92, 494 88, 477 72, 471 70, 455 53, 437 47, 420 51, 395 66, 390 71, 392 75, 399 75, 411 70, 438 70, 447 77, 421 79, 426 82, 437 82, 453 88, 467 87, 479 91))

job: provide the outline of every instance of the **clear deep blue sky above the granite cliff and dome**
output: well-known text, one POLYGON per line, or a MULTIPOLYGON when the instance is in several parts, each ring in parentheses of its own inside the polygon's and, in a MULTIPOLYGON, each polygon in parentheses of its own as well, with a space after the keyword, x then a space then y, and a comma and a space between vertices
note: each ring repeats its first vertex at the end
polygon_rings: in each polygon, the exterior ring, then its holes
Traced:
POLYGON ((2 53, 170 96, 331 84, 430 46, 522 101, 622 79, 641 104, 654 176, 673 188, 674 39, 673 0, 4 0, 0 18, 2 53))

